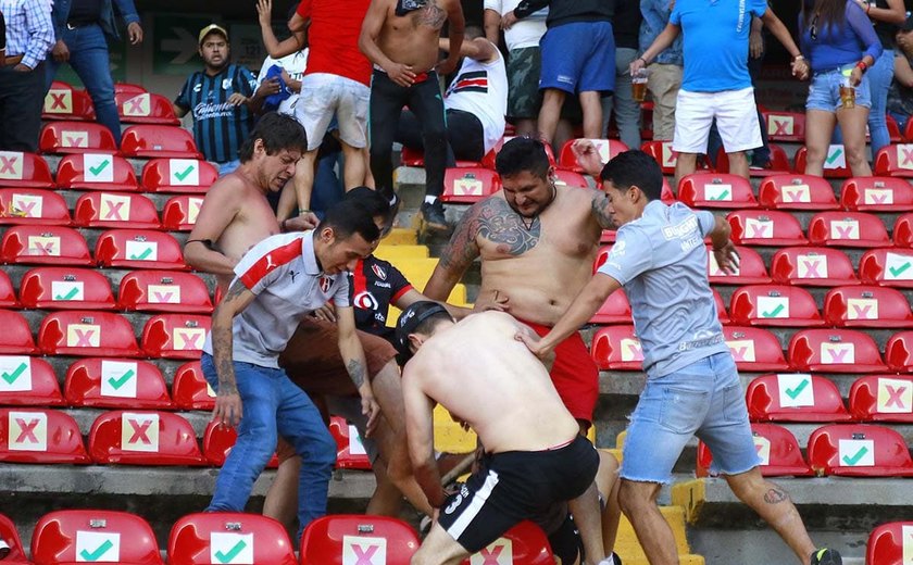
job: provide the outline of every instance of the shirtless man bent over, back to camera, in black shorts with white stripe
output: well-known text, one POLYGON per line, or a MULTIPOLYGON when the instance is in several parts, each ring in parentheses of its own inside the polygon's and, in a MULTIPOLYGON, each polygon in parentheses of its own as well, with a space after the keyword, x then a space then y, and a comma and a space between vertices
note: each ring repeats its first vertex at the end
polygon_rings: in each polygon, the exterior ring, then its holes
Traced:
MULTIPOLYGON (((409 454, 436 524, 413 565, 460 563, 521 522, 548 532, 553 508, 568 502, 586 563, 604 557, 593 479, 599 454, 577 434, 542 364, 516 340, 533 331, 502 312, 459 324, 436 302, 416 302, 397 322, 397 349, 415 354, 403 368, 409 454), (478 434, 479 468, 459 492, 447 492, 434 454, 435 403, 478 434), (441 512, 440 508, 443 508, 441 512)), ((559 528, 566 514, 559 516, 559 528)), ((562 563, 575 563, 562 554, 562 563)), ((612 563, 608 561, 606 563, 612 563)))

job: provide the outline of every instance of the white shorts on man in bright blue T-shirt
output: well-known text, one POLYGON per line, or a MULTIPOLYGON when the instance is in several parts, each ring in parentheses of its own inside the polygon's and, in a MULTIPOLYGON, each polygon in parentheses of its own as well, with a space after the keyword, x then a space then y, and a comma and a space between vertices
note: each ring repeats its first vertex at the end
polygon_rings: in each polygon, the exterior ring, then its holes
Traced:
POLYGON ((672 149, 678 153, 706 153, 706 140, 714 117, 727 153, 755 149, 764 143, 753 88, 722 92, 679 89, 672 149))

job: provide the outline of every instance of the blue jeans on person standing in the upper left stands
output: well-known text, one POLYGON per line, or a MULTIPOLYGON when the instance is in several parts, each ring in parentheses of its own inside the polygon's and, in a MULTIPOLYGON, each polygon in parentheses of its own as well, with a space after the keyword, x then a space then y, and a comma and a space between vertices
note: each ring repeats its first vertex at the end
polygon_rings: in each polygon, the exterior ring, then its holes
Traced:
MULTIPOLYGON (((86 85, 86 90, 92 98, 98 123, 111 130, 114 142, 121 147, 121 118, 117 115, 117 104, 114 103, 114 79, 111 78, 111 66, 108 63, 108 41, 104 32, 98 24, 76 29, 64 27, 58 39, 62 39, 70 49, 70 66, 86 85)), ((46 93, 51 88, 59 66, 60 63, 54 61, 53 56, 48 56, 46 93)))

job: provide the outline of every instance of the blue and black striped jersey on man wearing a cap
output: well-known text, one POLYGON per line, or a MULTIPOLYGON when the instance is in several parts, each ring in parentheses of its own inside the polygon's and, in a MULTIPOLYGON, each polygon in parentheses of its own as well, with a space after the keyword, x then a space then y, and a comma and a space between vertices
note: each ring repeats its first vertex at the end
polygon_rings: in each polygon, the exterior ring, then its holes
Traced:
POLYGON ((215 76, 198 71, 184 83, 174 103, 193 114, 193 139, 207 161, 238 159, 238 149, 253 128, 253 114, 246 104, 229 104, 228 98, 235 92, 251 97, 255 85, 251 72, 235 64, 215 76))

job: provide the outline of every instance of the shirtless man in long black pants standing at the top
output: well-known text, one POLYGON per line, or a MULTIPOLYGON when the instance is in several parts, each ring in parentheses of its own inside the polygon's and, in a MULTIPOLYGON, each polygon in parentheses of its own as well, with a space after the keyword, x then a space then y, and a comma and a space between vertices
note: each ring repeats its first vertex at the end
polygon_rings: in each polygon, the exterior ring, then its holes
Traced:
POLYGON ((362 24, 359 48, 374 63, 368 110, 371 172, 377 189, 396 206, 392 147, 404 105, 422 123, 425 147, 425 202, 421 213, 429 229, 447 230, 443 218, 443 172, 447 125, 438 73, 456 68, 463 42, 459 0, 372 0, 362 24), (438 39, 449 22, 450 50, 438 62, 438 39))

